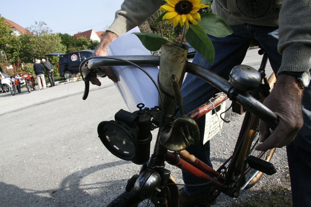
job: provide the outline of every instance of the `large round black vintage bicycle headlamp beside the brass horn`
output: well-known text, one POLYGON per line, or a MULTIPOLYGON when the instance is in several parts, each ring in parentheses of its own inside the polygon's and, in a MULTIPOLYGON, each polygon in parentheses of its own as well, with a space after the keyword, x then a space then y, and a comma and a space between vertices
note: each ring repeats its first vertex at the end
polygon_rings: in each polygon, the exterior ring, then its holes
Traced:
POLYGON ((121 109, 114 118, 116 121, 103 121, 98 125, 101 142, 120 159, 135 164, 148 162, 152 139, 150 113, 142 110, 130 113, 121 109))

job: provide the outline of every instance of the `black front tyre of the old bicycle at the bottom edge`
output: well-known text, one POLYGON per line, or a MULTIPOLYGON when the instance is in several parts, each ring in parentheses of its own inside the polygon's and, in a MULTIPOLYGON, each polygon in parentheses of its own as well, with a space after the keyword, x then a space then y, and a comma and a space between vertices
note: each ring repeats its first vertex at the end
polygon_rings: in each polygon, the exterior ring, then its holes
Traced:
MULTIPOLYGON (((178 207, 179 192, 177 186, 168 185, 165 188, 165 207, 178 207)), ((124 192, 114 199, 107 207, 153 206, 152 199, 142 199, 133 190, 124 192)))

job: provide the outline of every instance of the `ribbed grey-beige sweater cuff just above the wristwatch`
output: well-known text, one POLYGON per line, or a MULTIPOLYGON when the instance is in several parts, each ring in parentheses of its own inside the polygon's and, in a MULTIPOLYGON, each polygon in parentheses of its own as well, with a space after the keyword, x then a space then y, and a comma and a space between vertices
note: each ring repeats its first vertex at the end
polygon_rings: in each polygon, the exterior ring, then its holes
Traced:
POLYGON ((282 71, 304 72, 311 67, 311 47, 305 44, 292 44, 284 48, 279 74, 282 71))

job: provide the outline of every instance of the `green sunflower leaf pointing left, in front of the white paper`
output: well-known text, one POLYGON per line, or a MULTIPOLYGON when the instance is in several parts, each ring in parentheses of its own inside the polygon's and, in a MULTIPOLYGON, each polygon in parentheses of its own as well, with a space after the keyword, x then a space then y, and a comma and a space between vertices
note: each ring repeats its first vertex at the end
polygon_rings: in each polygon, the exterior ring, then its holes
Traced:
POLYGON ((145 48, 150 51, 157 51, 161 48, 162 44, 169 42, 167 39, 157 34, 140 32, 134 32, 132 34, 135 34, 140 39, 145 48))

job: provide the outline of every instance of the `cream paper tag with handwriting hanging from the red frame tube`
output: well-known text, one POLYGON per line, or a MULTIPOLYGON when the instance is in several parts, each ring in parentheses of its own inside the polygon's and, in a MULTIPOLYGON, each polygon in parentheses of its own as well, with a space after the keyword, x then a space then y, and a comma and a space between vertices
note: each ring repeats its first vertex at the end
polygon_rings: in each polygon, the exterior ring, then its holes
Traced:
MULTIPOLYGON (((213 108, 211 111, 205 114, 203 145, 213 136, 215 136, 220 131, 220 129, 222 129, 224 121, 220 118, 220 113, 226 110, 226 101, 216 106, 215 109, 213 108)), ((225 117, 225 115, 222 114, 222 117, 225 117)))

